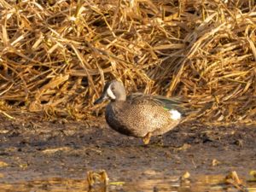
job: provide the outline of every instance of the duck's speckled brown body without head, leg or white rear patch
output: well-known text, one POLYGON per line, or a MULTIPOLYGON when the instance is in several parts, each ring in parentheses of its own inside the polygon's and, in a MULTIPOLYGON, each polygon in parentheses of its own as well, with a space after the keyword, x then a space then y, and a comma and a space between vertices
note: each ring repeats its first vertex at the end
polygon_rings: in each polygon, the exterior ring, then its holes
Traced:
POLYGON ((179 123, 179 120, 171 119, 169 111, 151 96, 135 94, 128 96, 125 102, 110 102, 106 120, 113 130, 133 137, 145 137, 148 132, 160 135, 179 123))

